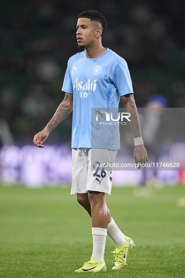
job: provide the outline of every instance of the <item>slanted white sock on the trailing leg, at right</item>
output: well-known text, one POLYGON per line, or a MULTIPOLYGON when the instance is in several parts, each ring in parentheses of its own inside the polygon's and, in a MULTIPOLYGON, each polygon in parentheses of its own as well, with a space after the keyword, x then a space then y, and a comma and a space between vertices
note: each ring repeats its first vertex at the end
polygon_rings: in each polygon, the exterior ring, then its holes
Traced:
POLYGON ((125 243, 125 235, 118 228, 113 218, 107 226, 107 233, 110 236, 110 238, 114 241, 115 245, 121 246, 125 243))

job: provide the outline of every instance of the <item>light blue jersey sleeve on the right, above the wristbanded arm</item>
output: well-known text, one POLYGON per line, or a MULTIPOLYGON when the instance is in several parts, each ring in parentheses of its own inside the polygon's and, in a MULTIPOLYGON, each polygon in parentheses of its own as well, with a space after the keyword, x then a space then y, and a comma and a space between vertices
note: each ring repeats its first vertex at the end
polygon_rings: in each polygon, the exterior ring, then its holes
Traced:
POLYGON ((114 71, 114 80, 120 97, 126 94, 134 93, 132 89, 130 72, 125 60, 119 62, 116 65, 116 69, 114 71))

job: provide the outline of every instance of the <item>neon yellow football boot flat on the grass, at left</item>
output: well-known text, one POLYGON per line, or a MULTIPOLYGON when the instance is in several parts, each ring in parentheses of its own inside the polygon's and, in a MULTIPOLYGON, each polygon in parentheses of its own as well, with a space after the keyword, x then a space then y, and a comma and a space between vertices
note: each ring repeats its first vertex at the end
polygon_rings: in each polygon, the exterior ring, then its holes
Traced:
POLYGON ((84 265, 75 270, 75 272, 101 272, 106 271, 105 261, 100 262, 91 258, 89 262, 84 263, 84 265))

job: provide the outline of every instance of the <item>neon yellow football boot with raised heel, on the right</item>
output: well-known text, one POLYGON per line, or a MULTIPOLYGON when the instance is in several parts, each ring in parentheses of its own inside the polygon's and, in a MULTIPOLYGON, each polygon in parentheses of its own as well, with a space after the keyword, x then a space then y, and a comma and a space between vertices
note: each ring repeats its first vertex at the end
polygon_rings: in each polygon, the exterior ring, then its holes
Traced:
POLYGON ((132 249, 136 245, 134 244, 133 240, 125 236, 125 243, 121 246, 116 245, 116 249, 113 256, 115 256, 115 262, 112 269, 123 269, 127 266, 126 264, 126 257, 128 253, 132 251, 132 249))

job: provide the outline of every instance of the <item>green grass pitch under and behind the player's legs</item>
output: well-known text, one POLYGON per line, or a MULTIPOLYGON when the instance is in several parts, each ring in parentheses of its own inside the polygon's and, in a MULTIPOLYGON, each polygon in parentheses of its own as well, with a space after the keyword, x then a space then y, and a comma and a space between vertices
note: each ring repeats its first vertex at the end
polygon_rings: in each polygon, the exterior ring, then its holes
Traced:
POLYGON ((92 254, 91 219, 70 188, 0 187, 0 277, 185 277, 185 187, 112 188, 106 197, 120 229, 134 240, 128 266, 113 271, 107 236, 105 273, 74 273, 92 254))

